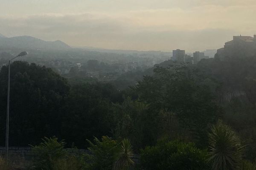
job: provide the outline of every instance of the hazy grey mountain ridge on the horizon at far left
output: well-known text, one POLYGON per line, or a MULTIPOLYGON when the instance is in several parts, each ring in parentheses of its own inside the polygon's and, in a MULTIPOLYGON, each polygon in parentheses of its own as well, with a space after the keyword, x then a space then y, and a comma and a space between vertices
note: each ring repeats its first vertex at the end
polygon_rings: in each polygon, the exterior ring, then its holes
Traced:
POLYGON ((7 38, 0 34, 0 47, 4 48, 24 48, 24 49, 55 49, 63 50, 71 48, 64 42, 57 41, 44 41, 30 36, 19 36, 7 38))

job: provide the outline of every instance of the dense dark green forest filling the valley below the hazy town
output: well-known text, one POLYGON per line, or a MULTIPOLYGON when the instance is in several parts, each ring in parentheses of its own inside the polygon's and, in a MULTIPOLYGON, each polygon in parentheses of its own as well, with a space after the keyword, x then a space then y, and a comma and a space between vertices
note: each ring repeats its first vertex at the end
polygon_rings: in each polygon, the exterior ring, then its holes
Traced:
MULTIPOLYGON (((215 57, 197 65, 169 60, 145 71, 136 85, 118 90, 118 82, 70 82, 50 68, 13 62, 10 145, 34 146, 44 136, 56 136, 66 144, 57 138, 48 142, 89 147, 96 156, 87 156, 93 164, 83 167, 95 170, 121 166, 116 153, 125 146, 131 151, 131 145, 143 170, 245 170, 256 160, 255 63, 255 57, 215 57), (227 159, 221 161, 216 144, 227 147, 230 157, 224 154, 227 159), (109 162, 97 157, 110 150, 109 162)), ((7 72, 3 66, 0 145, 5 141, 7 72)))

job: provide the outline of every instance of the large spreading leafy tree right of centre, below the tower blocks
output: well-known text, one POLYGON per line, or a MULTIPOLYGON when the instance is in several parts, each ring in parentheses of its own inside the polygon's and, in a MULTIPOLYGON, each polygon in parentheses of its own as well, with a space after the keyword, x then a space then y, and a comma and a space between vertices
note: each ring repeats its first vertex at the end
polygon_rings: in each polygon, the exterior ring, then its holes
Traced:
POLYGON ((207 128, 218 117, 212 94, 215 83, 198 70, 183 66, 157 67, 154 72, 154 76, 144 77, 136 86, 139 99, 151 111, 174 113, 180 127, 189 130, 192 139, 201 139, 200 144, 206 145, 207 128))

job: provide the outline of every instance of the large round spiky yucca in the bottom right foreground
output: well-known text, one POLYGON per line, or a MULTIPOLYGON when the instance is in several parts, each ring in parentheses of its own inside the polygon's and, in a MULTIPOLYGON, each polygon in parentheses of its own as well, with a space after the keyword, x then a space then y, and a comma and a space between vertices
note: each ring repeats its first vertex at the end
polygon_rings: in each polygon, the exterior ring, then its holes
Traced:
POLYGON ((231 127, 218 122, 208 136, 212 170, 240 170, 245 145, 231 127))

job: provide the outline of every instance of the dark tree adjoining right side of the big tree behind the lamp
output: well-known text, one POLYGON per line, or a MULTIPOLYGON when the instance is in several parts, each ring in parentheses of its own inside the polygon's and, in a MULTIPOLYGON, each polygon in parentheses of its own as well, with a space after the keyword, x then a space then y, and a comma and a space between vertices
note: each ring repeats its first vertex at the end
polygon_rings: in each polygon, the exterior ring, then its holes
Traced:
POLYGON ((74 85, 66 100, 61 130, 68 145, 75 142, 77 147, 84 147, 84 141, 91 136, 111 136, 116 126, 112 102, 119 98, 119 92, 110 84, 74 85))

